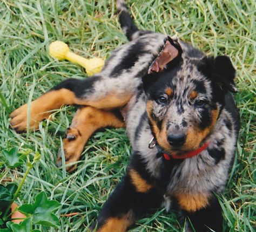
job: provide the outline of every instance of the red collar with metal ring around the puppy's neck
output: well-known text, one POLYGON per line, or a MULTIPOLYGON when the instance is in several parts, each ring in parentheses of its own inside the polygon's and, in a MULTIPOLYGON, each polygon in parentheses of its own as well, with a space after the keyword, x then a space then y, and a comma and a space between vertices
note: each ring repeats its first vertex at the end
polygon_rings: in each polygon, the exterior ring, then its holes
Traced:
POLYGON ((191 158, 195 155, 198 155, 200 152, 203 152, 204 149, 206 149, 211 143, 211 140, 208 140, 203 146, 199 147, 198 149, 194 150, 194 151, 191 151, 191 152, 187 152, 185 154, 181 154, 181 155, 177 155, 177 154, 167 154, 166 152, 164 152, 160 147, 159 145, 157 144, 156 142, 156 139, 152 139, 150 141, 150 144, 149 144, 149 148, 153 148, 154 146, 157 147, 159 153, 161 153, 164 158, 166 160, 171 160, 171 159, 187 159, 187 158, 191 158), (152 146, 152 142, 154 142, 153 146, 152 146))

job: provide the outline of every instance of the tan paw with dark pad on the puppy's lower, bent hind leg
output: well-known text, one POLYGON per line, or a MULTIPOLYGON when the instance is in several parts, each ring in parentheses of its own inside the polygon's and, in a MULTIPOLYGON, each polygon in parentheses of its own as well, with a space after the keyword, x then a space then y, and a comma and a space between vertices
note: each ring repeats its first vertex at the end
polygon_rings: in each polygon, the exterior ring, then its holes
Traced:
MULTIPOLYGON (((76 128, 68 128, 66 130, 66 136, 63 140, 63 151, 65 155, 66 171, 73 172, 76 169, 77 163, 72 164, 79 160, 84 148, 84 139, 76 128)), ((59 148, 59 154, 57 158, 57 166, 62 166, 62 149, 59 148)))

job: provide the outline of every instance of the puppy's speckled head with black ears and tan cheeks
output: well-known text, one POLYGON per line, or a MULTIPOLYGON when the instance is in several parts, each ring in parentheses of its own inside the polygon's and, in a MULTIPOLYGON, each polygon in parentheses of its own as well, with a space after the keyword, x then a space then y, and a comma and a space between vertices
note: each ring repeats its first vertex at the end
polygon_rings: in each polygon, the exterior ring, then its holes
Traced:
MULTIPOLYGON (((197 51, 197 50, 195 50, 197 51)), ((235 70, 226 56, 190 57, 168 37, 143 78, 147 114, 160 147, 182 154, 199 148, 235 92, 235 70)))

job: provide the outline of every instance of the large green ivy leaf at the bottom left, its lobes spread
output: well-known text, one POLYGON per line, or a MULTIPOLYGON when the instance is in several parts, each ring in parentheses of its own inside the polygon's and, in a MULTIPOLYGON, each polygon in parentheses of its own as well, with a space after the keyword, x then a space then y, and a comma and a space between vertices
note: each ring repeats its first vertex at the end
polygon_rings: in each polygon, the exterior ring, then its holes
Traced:
POLYGON ((33 224, 41 224, 43 226, 57 227, 60 226, 58 217, 52 212, 61 206, 55 200, 48 200, 45 192, 36 196, 33 204, 23 204, 18 211, 26 216, 33 217, 33 224))

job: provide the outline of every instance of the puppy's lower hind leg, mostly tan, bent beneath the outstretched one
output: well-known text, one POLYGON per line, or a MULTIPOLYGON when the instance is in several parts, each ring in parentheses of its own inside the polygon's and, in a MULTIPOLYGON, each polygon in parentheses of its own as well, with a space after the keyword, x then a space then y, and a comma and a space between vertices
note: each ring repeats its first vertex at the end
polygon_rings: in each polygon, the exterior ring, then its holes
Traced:
MULTIPOLYGON (((79 107, 63 141, 66 170, 72 172, 76 168, 76 164, 68 164, 79 160, 84 145, 97 129, 124 126, 124 120, 118 110, 104 111, 91 106, 79 107)), ((62 165, 60 154, 57 165, 62 165)))

